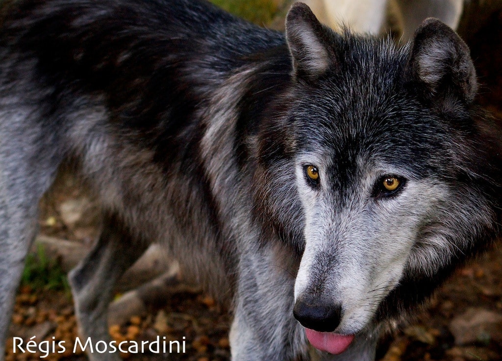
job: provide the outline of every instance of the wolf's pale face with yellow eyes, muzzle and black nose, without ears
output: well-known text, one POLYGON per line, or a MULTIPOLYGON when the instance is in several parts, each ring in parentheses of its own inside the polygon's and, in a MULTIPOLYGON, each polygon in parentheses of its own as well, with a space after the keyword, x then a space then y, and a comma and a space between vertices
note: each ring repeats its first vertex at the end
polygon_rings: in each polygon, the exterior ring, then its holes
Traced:
POLYGON ((305 250, 295 298, 308 328, 360 331, 407 267, 430 268, 435 254, 454 251, 435 234, 426 241, 432 254, 415 255, 452 196, 440 169, 448 159, 447 144, 441 144, 447 137, 432 142, 441 130, 424 122, 431 114, 420 118, 396 104, 380 105, 380 114, 332 109, 331 127, 302 130, 298 138, 306 146, 295 159, 305 250), (410 132, 414 126, 417 134, 410 132), (411 258, 418 264, 409 265, 411 258))

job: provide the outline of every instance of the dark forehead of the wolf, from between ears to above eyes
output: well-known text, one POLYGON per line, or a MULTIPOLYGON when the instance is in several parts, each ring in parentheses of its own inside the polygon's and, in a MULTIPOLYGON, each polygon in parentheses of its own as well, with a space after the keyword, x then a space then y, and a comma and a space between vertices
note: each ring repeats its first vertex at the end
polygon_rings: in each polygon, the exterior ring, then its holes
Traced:
POLYGON ((363 41, 339 58, 338 72, 299 91, 293 117, 300 152, 347 173, 361 163, 408 165, 417 176, 434 172, 447 153, 448 130, 403 87, 407 49, 363 41))

